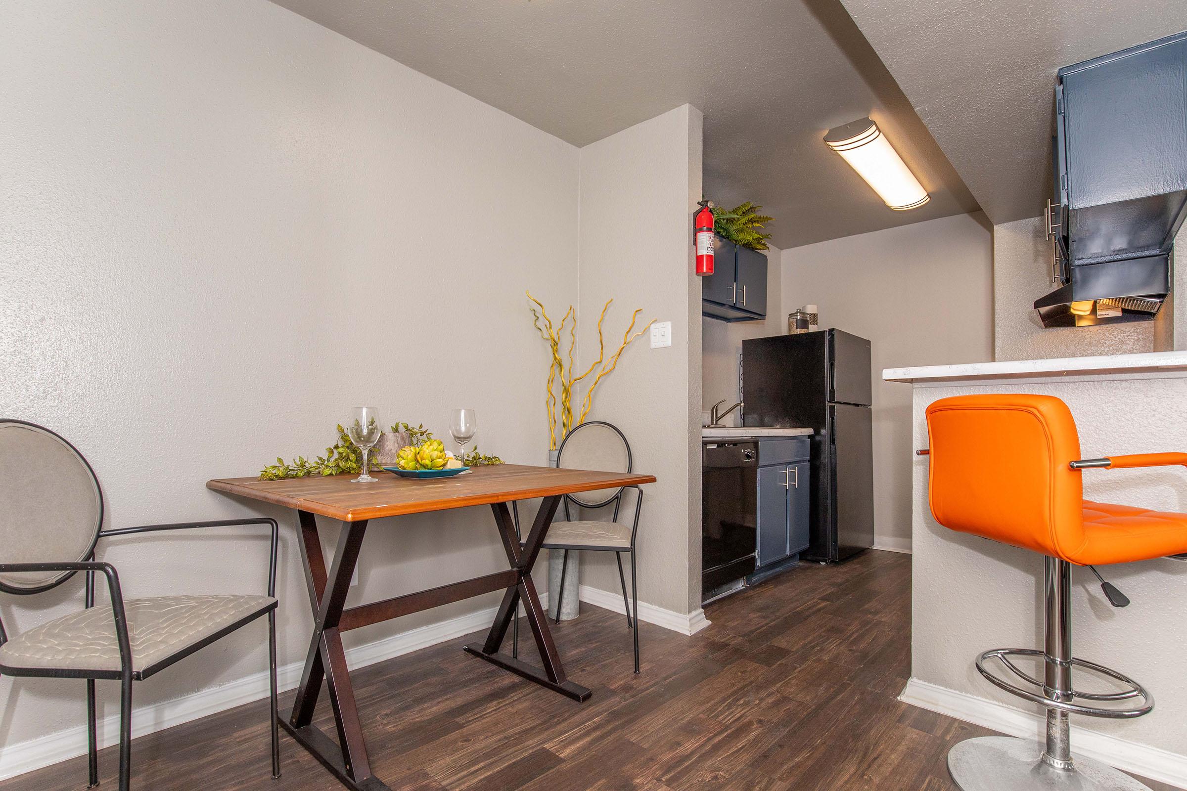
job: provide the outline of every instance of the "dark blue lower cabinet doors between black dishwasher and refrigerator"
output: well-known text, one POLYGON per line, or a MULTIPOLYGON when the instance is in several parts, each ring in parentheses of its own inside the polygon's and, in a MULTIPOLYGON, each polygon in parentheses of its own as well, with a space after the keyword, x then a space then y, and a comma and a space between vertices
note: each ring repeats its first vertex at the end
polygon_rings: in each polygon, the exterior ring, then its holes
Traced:
POLYGON ((807 461, 758 467, 758 567, 801 553, 811 543, 807 461))

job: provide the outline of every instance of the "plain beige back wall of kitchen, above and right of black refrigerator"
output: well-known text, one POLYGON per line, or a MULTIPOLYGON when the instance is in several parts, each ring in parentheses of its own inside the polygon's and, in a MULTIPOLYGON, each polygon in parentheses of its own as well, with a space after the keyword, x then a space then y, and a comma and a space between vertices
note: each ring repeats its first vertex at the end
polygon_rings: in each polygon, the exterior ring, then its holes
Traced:
POLYGON ((783 250, 783 305, 818 305, 821 327, 870 339, 877 546, 910 549, 910 393, 881 371, 990 359, 991 266, 971 215, 783 250))

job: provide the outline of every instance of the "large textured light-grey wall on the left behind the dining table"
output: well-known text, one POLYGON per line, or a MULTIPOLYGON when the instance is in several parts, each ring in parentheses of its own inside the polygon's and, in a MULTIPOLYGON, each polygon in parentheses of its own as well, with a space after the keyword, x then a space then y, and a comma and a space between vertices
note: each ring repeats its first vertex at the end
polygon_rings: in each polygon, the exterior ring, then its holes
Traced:
MULTIPOLYGON (((541 464, 546 351, 523 289, 577 299, 578 151, 262 0, 0 0, 0 415, 78 446, 110 527, 283 517, 280 661, 298 661, 292 515, 205 480, 318 453, 360 403, 438 434, 472 407, 483 449, 541 464)), ((604 395, 629 395, 628 376, 604 395)), ((265 583, 262 540, 128 538, 100 556, 129 597, 265 583)), ((350 602, 504 564, 489 509, 376 522, 350 602)), ((4 597, 0 614, 20 631, 80 591, 4 597)), ((137 703, 264 670, 264 636, 138 684, 137 703)), ((0 680, 0 745, 81 725, 82 689, 0 680)))

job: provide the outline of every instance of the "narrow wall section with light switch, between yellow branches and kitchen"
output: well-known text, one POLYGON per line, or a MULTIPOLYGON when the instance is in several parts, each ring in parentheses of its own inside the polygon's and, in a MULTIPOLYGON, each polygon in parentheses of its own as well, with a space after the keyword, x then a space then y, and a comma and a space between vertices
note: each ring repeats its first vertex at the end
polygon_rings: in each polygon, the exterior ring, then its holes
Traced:
MULTIPOLYGON (((700 111, 687 104, 580 149, 582 364, 598 357, 597 317, 608 299, 608 355, 635 308, 639 326, 672 323, 671 347, 650 349, 643 334, 627 349, 598 383, 590 419, 621 428, 635 470, 656 478, 645 487, 639 598, 679 614, 700 606, 700 283, 692 262, 700 154, 700 111)), ((609 553, 584 553, 582 574, 583 585, 618 595, 609 553)))

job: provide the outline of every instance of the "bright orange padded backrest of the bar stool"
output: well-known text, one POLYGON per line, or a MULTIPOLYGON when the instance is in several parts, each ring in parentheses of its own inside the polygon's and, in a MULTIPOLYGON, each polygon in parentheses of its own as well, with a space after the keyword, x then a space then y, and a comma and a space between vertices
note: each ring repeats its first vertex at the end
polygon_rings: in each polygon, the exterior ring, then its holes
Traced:
POLYGON ((928 499, 952 530, 1067 559, 1084 544, 1072 413, 1042 395, 972 395, 927 408, 928 499))

